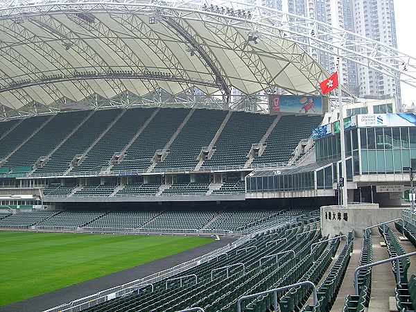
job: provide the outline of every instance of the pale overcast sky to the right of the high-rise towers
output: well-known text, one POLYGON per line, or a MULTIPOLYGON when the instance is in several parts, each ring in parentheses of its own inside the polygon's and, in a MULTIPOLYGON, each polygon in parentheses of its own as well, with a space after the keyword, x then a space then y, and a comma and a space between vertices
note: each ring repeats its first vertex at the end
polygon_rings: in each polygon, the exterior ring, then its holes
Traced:
MULTIPOLYGON (((416 57, 416 1, 395 0, 397 48, 416 57)), ((416 88, 401 84, 402 103, 416 105, 416 88)))

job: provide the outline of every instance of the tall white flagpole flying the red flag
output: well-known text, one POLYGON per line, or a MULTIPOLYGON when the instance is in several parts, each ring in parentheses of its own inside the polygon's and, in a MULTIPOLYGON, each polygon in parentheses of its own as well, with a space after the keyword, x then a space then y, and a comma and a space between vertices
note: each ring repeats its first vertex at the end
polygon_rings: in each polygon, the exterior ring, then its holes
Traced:
POLYGON ((344 178, 343 198, 341 205, 344 208, 348 207, 348 193, 347 193, 347 162, 345 160, 345 131, 344 131, 344 110, 343 110, 343 62, 340 53, 338 53, 338 94, 340 110, 340 141, 341 141, 341 177, 344 178))

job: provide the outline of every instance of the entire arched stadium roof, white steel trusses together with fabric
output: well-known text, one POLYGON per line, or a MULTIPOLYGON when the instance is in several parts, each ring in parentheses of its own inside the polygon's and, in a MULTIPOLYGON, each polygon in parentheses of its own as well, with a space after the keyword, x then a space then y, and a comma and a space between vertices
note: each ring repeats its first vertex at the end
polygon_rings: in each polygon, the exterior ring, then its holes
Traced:
POLYGON ((248 3, 11 2, 0 8, 0 119, 80 103, 266 112, 277 89, 319 94, 327 71, 312 49, 416 87, 410 55, 248 3))

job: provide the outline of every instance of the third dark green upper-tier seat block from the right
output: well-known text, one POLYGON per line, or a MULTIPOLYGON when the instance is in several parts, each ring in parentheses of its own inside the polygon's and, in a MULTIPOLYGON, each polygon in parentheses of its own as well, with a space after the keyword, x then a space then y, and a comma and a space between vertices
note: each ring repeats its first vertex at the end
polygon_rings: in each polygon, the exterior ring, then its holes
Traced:
POLYGON ((209 146, 227 112, 221 110, 196 110, 184 125, 171 146, 171 152, 155 167, 195 168, 201 148, 209 146))

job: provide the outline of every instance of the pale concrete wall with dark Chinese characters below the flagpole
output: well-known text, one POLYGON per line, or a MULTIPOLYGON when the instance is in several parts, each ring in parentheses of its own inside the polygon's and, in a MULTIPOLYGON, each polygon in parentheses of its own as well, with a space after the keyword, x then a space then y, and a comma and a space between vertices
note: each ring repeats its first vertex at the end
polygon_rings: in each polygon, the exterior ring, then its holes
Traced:
MULTIPOLYGON (((379 208, 378 204, 349 205, 347 209, 338 205, 322 206, 322 234, 329 234, 330 236, 339 234, 340 232, 347 234, 347 232, 354 229, 355 236, 362 237, 365 227, 395 218, 401 218, 402 210, 402 208, 379 208)), ((379 234, 379 231, 375 227, 372 229, 372 233, 379 234)))

